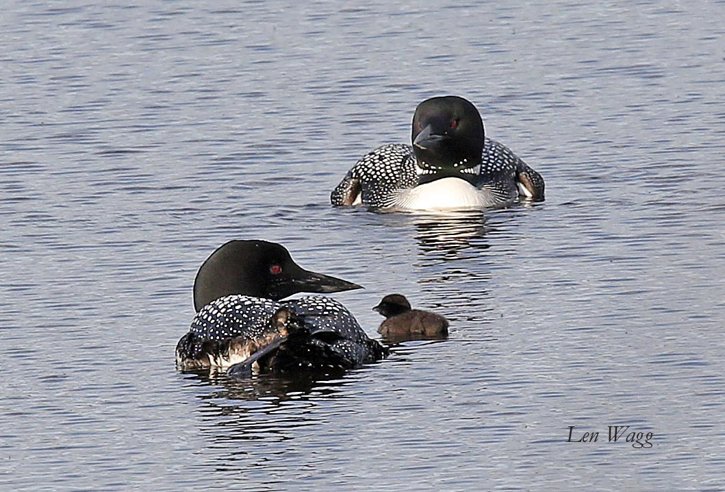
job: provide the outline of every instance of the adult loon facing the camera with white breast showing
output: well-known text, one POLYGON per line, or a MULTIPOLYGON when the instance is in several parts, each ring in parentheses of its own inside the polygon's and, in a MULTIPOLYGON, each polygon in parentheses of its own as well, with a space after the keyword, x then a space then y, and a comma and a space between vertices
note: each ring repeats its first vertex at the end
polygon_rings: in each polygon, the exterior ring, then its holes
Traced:
POLYGON ((413 115, 413 145, 369 152, 330 195, 332 205, 392 210, 464 210, 544 200, 544 179, 489 139, 479 110, 463 97, 426 99, 413 115))

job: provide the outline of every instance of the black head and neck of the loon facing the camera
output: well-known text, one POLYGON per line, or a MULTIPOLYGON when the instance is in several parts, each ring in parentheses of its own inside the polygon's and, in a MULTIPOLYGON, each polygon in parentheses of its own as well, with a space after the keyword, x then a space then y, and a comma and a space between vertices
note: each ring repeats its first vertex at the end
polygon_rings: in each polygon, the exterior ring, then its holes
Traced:
POLYGON ((413 153, 420 184, 447 176, 471 181, 481 165, 484 122, 463 97, 432 97, 413 115, 413 153))

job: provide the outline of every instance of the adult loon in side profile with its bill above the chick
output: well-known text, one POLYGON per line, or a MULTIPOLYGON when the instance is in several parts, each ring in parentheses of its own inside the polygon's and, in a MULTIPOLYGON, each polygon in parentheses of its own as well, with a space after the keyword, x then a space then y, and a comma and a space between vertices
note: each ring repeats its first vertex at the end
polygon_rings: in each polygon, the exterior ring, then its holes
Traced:
POLYGON ((179 369, 260 372, 355 369, 386 356, 341 303, 298 292, 341 292, 360 285, 307 271, 282 245, 233 240, 218 247, 194 281, 196 316, 176 345, 179 369))

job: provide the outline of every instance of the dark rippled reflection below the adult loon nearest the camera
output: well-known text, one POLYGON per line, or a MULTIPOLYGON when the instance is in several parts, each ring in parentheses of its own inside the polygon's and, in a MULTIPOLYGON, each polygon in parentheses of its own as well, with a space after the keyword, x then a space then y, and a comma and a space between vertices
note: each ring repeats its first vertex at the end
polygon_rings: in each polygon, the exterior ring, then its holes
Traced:
POLYGON ((368 370, 338 379, 262 374, 234 380, 195 373, 191 380, 211 387, 196 395, 196 425, 210 451, 206 466, 249 477, 285 473, 320 427, 326 427, 339 411, 345 413, 341 409, 355 408, 355 394, 349 387, 359 384, 368 370), (336 401, 334 405, 330 400, 336 401))

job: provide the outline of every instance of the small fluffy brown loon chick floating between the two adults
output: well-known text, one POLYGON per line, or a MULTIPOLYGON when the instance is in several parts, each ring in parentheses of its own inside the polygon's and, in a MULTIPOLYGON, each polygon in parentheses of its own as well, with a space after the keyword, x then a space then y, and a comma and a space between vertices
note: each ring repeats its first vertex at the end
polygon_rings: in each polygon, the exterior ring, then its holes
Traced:
POLYGON ((386 295, 373 311, 386 317, 378 332, 389 340, 425 340, 448 336, 448 321, 443 316, 411 309, 404 295, 386 295))

